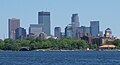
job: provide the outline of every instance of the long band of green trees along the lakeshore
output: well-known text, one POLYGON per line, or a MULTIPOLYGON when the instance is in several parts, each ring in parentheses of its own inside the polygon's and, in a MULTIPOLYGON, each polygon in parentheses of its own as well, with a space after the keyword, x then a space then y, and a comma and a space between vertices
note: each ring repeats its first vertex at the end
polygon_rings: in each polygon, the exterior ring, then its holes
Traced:
POLYGON ((30 50, 36 49, 49 49, 49 50, 78 50, 78 49, 95 49, 98 46, 96 44, 88 44, 84 40, 77 40, 71 38, 61 39, 41 39, 41 38, 26 38, 22 40, 13 39, 0 39, 1 50, 13 50, 18 51, 21 47, 29 47, 30 50))

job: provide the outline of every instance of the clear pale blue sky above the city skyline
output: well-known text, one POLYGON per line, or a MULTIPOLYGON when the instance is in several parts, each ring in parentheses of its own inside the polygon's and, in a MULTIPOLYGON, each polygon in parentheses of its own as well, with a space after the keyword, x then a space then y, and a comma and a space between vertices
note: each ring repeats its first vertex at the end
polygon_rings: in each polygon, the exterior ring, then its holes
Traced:
POLYGON ((8 36, 8 19, 19 18, 21 27, 37 24, 39 11, 51 12, 51 32, 54 27, 71 23, 71 15, 78 13, 80 25, 89 26, 90 20, 100 21, 100 30, 111 28, 120 36, 120 0, 0 0, 0 38, 8 36))

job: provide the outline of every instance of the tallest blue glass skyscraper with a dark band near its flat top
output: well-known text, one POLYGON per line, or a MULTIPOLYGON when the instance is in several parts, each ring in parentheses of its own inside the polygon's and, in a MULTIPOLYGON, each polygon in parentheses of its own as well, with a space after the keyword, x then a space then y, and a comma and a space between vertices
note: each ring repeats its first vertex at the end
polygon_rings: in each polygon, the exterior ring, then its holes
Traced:
POLYGON ((50 12, 38 12, 38 24, 42 25, 42 32, 46 33, 48 36, 50 33, 50 12))

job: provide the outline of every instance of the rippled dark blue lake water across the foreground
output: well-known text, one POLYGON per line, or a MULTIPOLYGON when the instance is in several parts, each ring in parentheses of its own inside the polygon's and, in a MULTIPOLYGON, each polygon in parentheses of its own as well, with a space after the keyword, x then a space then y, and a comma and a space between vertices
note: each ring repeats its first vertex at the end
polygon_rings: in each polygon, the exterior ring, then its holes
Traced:
POLYGON ((120 51, 4 51, 0 65, 120 65, 120 51))

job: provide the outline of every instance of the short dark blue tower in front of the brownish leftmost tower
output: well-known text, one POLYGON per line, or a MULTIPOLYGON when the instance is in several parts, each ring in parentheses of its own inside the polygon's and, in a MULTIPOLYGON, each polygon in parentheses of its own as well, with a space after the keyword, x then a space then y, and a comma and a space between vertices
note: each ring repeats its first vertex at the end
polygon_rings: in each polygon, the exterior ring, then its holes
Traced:
POLYGON ((16 35, 15 35, 15 39, 23 39, 26 38, 26 29, 19 27, 15 30, 16 35))

